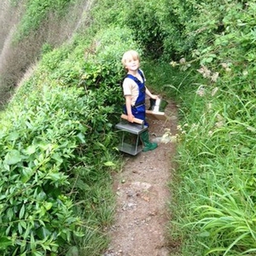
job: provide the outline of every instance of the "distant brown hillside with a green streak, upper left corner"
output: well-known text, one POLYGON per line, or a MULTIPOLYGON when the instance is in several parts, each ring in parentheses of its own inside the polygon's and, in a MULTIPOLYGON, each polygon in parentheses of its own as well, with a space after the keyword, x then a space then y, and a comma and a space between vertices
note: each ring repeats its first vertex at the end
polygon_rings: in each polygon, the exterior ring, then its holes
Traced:
POLYGON ((79 28, 90 23, 90 2, 93 1, 3 0, 0 108, 9 101, 15 84, 41 55, 71 40, 79 28))

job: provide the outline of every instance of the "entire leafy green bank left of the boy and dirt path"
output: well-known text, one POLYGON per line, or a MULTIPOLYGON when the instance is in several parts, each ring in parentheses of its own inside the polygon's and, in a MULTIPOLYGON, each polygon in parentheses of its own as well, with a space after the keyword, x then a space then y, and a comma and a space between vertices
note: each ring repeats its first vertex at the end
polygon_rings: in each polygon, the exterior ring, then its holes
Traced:
POLYGON ((120 165, 119 56, 128 42, 135 47, 128 29, 114 32, 45 54, 2 113, 3 255, 98 255, 107 247, 120 165))

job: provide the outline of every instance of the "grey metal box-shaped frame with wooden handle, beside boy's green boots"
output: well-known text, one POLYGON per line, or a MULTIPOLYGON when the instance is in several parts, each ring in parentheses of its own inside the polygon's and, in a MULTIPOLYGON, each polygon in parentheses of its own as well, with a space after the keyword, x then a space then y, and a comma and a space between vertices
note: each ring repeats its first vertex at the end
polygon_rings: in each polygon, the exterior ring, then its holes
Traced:
POLYGON ((136 155, 143 151, 143 145, 140 145, 140 134, 143 131, 148 130, 148 126, 144 126, 144 121, 142 119, 133 119, 134 123, 130 123, 127 120, 127 115, 122 114, 121 115, 122 120, 119 124, 115 125, 116 129, 120 130, 122 132, 122 139, 121 143, 119 143, 119 151, 125 152, 127 154, 136 155), (125 135, 128 135, 128 139, 130 138, 130 141, 127 140, 125 135), (132 135, 135 137, 134 142, 131 142, 132 135))

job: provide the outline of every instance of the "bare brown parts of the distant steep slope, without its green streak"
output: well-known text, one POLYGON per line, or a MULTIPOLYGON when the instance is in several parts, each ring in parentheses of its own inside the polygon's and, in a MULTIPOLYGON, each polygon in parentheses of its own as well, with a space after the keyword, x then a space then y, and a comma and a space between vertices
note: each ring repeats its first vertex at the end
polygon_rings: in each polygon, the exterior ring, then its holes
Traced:
POLYGON ((49 10, 38 29, 27 31, 19 41, 15 41, 20 24, 27 17, 25 1, 17 4, 3 0, 0 7, 0 104, 4 104, 10 89, 18 84, 28 67, 32 66, 47 48, 65 43, 73 38, 79 28, 88 23, 88 14, 94 0, 81 0, 71 4, 66 14, 49 10), (14 43, 15 42, 15 43, 14 43), (47 46, 47 47, 46 47, 47 46))

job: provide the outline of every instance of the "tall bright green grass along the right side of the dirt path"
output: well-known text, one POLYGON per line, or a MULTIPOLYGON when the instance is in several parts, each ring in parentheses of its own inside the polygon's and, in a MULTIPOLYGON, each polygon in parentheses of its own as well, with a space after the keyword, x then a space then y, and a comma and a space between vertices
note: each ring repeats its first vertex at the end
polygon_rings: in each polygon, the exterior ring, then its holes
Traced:
POLYGON ((172 227, 182 255, 254 255, 255 92, 214 88, 183 90, 172 227))

